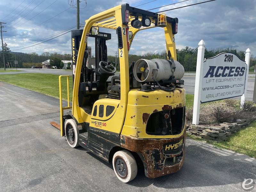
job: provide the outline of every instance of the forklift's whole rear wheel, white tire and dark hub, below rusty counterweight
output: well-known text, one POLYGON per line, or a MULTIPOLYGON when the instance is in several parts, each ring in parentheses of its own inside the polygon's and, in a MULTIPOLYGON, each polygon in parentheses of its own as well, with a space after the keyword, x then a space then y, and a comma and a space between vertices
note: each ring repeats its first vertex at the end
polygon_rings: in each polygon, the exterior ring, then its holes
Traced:
POLYGON ((127 150, 117 151, 112 160, 116 177, 124 183, 133 180, 137 175, 137 163, 127 150))

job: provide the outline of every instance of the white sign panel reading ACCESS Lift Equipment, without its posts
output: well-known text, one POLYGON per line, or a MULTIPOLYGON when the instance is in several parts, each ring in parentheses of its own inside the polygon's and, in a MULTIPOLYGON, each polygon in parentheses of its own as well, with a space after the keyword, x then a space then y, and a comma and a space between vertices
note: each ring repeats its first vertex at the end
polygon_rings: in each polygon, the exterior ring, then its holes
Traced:
POLYGON ((245 61, 223 52, 203 64, 201 103, 241 96, 246 76, 245 61))

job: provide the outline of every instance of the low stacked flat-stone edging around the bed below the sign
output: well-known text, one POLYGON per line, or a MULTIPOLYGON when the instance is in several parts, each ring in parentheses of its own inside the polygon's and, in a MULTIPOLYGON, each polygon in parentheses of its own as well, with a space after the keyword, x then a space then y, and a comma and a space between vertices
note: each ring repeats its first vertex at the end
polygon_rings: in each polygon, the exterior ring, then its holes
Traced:
POLYGON ((221 123, 220 125, 188 125, 187 133, 197 135, 209 140, 227 140, 227 138, 249 125, 252 121, 256 121, 256 117, 251 119, 237 119, 234 123, 221 123))

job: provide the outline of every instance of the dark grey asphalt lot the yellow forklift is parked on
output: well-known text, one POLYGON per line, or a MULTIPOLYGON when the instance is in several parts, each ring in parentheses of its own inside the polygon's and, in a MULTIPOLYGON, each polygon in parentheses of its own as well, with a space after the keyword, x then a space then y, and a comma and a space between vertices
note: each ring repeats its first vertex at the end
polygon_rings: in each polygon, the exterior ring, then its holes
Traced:
POLYGON ((0 106, 0 191, 233 192, 256 179, 254 158, 187 139, 179 172, 148 179, 139 170, 125 184, 112 165, 70 148, 49 124, 59 121, 59 100, 0 82, 0 106))

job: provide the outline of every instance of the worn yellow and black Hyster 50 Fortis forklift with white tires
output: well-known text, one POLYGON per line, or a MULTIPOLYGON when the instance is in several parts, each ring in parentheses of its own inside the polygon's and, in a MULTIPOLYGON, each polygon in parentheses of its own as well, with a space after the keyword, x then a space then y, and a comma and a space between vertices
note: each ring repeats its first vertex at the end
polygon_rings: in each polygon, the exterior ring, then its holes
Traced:
POLYGON ((177 18, 122 4, 72 31, 73 100, 72 107, 62 107, 60 87, 61 136, 72 148, 82 146, 112 163, 123 182, 136 177, 138 164, 156 178, 179 171, 184 162, 184 68, 176 59, 177 29, 177 18), (166 59, 129 61, 136 33, 155 27, 164 29, 166 59), (108 62, 111 34, 100 28, 116 30, 120 76, 108 62), (88 37, 95 38, 94 68, 87 62, 88 37), (72 113, 64 115, 69 108, 72 113))

